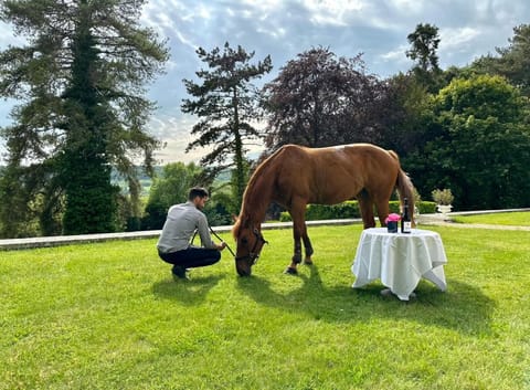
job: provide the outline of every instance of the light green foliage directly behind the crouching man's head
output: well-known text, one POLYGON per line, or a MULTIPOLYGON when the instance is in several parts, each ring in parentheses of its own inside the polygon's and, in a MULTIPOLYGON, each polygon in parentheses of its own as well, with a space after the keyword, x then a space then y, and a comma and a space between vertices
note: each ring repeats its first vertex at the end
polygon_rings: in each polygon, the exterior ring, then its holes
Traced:
POLYGON ((163 167, 161 177, 155 178, 149 191, 142 229, 162 229, 169 208, 172 204, 183 203, 188 200, 190 188, 194 186, 208 188, 210 182, 201 180, 203 169, 193 162, 172 162, 163 167))

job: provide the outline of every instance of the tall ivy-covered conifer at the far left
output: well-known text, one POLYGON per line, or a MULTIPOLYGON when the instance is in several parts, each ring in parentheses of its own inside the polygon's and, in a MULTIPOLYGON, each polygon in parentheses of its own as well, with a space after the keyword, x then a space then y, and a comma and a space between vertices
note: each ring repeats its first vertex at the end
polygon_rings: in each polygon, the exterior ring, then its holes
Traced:
MULTIPOLYGON (((152 30, 139 27, 144 3, 0 6, 0 19, 28 38, 25 46, 0 53, 0 95, 23 102, 12 112, 14 125, 2 130, 8 170, 18 177, 4 176, 1 186, 15 191, 15 199, 26 194, 22 205, 36 208, 43 233, 56 229, 50 226, 57 214, 67 234, 115 230, 118 189, 110 183, 110 167, 131 188, 139 186, 132 157, 142 154, 151 168, 159 141, 144 129, 155 108, 142 97, 144 85, 162 71, 168 50, 152 30)), ((2 217, 10 207, 4 200, 2 217)))

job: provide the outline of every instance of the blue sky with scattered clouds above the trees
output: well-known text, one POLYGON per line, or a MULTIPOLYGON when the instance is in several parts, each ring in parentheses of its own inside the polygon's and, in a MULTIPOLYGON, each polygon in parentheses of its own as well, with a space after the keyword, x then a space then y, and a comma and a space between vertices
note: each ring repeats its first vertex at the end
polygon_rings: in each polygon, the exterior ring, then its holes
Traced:
MULTIPOLYGON (((159 108, 148 131, 166 143, 160 164, 198 161, 206 151, 184 154, 197 117, 180 110, 187 95, 183 78, 195 80, 204 64, 195 50, 211 51, 229 42, 255 52, 253 61, 271 55, 273 71, 255 85, 274 80, 282 66, 311 48, 329 48, 337 56, 359 53, 369 73, 386 78, 407 72, 406 36, 418 23, 436 25, 439 65, 465 66, 509 45, 513 28, 530 23, 528 0, 150 0, 140 23, 168 39, 171 59, 166 74, 147 86, 159 108)), ((0 22, 0 50, 21 45, 12 28, 0 22)), ((0 126, 11 123, 13 102, 0 99, 0 126)), ((0 154, 4 154, 0 140, 0 154)))

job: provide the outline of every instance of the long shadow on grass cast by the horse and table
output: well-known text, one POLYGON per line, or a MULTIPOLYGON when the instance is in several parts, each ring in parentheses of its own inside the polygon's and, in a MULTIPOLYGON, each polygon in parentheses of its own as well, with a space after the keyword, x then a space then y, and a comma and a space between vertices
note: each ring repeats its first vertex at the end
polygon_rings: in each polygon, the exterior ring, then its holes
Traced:
POLYGON ((240 277, 237 286, 256 303, 293 313, 306 313, 319 320, 409 319, 467 335, 491 331, 494 301, 476 286, 458 281, 449 280, 445 293, 422 281, 416 289, 417 297, 407 303, 394 296, 382 296, 384 286, 379 283, 361 289, 348 285, 326 286, 316 265, 311 266, 309 276, 300 274, 295 277, 301 278, 301 287, 289 292, 275 291, 275 286, 258 276, 240 277))

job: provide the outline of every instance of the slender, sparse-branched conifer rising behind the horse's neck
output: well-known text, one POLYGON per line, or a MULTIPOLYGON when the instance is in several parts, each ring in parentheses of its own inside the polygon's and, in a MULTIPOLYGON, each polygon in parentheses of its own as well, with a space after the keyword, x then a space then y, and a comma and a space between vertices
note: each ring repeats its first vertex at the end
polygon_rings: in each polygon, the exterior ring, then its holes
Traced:
POLYGON ((183 81, 193 98, 183 99, 182 112, 201 118, 191 131, 199 138, 188 145, 187 151, 212 145, 212 151, 201 159, 201 164, 216 166, 218 170, 234 168, 232 185, 239 209, 246 186, 247 146, 261 137, 253 125, 258 116, 257 88, 251 81, 271 72, 271 56, 252 65, 250 61, 254 52, 247 53, 241 46, 234 50, 227 42, 223 51, 215 48, 206 52, 199 48, 197 54, 209 68, 195 73, 202 80, 200 84, 183 81))

